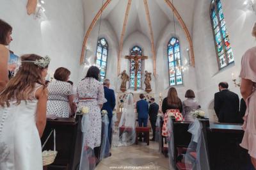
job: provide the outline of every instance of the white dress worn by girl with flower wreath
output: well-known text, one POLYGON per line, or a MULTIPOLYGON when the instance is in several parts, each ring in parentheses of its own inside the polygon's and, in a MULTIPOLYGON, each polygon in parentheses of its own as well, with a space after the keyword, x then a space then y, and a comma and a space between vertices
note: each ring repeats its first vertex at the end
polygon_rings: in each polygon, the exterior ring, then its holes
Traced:
MULTIPOLYGON (((40 88, 36 84, 36 89, 40 88)), ((36 128, 37 100, 0 106, 0 169, 42 170, 42 146, 36 128)))

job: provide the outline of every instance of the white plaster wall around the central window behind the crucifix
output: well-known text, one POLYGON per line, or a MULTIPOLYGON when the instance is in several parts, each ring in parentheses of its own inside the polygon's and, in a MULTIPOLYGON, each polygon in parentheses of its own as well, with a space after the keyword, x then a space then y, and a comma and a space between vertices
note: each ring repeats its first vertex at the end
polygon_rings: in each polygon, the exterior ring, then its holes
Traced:
MULTIPOLYGON (((143 59, 142 69, 144 71, 147 70, 148 72, 152 73, 151 93, 154 93, 155 92, 154 75, 153 75, 154 69, 153 69, 153 56, 151 51, 151 43, 148 37, 145 36, 143 33, 139 31, 135 31, 131 35, 128 35, 127 38, 124 40, 120 70, 121 72, 123 70, 126 70, 127 74, 129 75, 130 62, 129 62, 129 59, 125 59, 125 56, 130 55, 131 48, 134 47, 135 45, 138 45, 139 47, 141 47, 144 56, 148 56, 148 59, 143 59)), ((138 89, 136 93, 145 93, 144 73, 145 72, 142 73, 142 78, 141 78, 141 89, 138 89)), ((129 88, 129 82, 127 82, 127 88, 129 88)), ((129 93, 130 91, 134 92, 134 89, 128 89, 127 92, 129 93)))

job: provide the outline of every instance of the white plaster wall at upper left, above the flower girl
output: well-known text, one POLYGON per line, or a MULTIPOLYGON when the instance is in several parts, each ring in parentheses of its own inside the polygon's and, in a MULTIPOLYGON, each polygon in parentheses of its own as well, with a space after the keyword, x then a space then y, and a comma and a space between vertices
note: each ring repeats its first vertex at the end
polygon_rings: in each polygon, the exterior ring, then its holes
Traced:
POLYGON ((27 15, 27 2, 1 1, 1 19, 13 27, 10 50, 18 56, 28 53, 49 55, 49 72, 60 66, 66 67, 72 72, 70 80, 76 82, 84 35, 82 0, 72 3, 68 0, 45 1, 46 20, 42 22, 27 15))

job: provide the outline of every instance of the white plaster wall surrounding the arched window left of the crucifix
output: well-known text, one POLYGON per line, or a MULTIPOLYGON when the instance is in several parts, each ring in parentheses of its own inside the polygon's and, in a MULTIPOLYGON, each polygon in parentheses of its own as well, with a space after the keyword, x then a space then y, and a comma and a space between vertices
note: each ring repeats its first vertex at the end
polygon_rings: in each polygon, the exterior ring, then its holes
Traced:
MULTIPOLYGON (((99 34, 99 21, 93 27, 90 34, 87 45, 85 58, 88 59, 90 65, 95 64, 95 56, 97 51, 97 38, 99 34)), ((117 52, 118 52, 118 40, 113 27, 109 24, 108 20, 102 20, 100 23, 99 38, 106 38, 108 42, 108 60, 107 60, 107 72, 106 78, 111 81, 111 88, 116 89, 117 78, 117 52)), ((87 73, 89 65, 81 65, 79 72, 79 79, 83 79, 87 73)))

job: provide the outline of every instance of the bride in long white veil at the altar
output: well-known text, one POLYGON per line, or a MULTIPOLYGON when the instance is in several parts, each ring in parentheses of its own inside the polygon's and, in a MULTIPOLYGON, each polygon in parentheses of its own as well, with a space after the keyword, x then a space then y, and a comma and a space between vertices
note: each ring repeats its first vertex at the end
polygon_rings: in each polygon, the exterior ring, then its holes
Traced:
POLYGON ((124 102, 124 111, 118 125, 118 133, 113 136, 113 146, 129 146, 135 143, 135 104, 132 93, 124 102))

